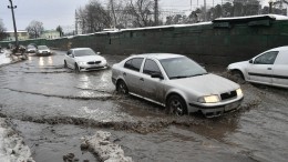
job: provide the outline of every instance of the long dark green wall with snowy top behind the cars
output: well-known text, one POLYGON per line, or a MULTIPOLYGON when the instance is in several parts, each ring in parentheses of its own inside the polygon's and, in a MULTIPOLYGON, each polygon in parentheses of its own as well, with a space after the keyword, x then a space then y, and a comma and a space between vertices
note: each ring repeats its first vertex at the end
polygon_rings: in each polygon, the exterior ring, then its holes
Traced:
POLYGON ((104 54, 181 53, 202 63, 223 65, 287 43, 288 20, 267 16, 45 40, 47 45, 63 50, 90 47, 104 54))

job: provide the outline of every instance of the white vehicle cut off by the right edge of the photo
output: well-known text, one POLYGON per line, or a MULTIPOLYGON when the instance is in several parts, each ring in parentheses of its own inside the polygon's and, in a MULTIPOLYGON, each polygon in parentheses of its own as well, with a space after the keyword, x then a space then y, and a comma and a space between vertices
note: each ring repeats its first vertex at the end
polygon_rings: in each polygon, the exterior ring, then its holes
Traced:
POLYGON ((288 47, 270 49, 227 69, 248 82, 288 88, 288 47))

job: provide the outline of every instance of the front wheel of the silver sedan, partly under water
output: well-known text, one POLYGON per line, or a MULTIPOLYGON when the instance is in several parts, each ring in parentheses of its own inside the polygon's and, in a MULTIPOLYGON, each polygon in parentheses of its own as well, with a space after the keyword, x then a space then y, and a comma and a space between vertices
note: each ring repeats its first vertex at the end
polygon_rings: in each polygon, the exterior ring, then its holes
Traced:
POLYGON ((187 113, 186 102, 176 94, 173 94, 168 98, 166 103, 166 109, 168 113, 182 117, 187 113))

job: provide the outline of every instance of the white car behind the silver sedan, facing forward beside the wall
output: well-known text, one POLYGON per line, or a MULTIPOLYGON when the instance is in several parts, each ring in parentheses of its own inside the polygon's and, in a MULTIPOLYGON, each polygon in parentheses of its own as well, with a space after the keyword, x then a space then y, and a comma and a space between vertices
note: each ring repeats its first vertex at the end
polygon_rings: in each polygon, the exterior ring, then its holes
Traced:
POLYGON ((90 48, 70 49, 64 58, 64 67, 79 71, 99 70, 107 68, 107 61, 90 48))

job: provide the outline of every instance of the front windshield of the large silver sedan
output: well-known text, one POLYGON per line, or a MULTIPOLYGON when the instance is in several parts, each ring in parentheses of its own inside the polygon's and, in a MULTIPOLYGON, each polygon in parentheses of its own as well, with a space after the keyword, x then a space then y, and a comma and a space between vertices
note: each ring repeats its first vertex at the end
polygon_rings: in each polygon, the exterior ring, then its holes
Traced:
POLYGON ((163 59, 160 62, 169 79, 207 74, 204 68, 186 57, 163 59))

